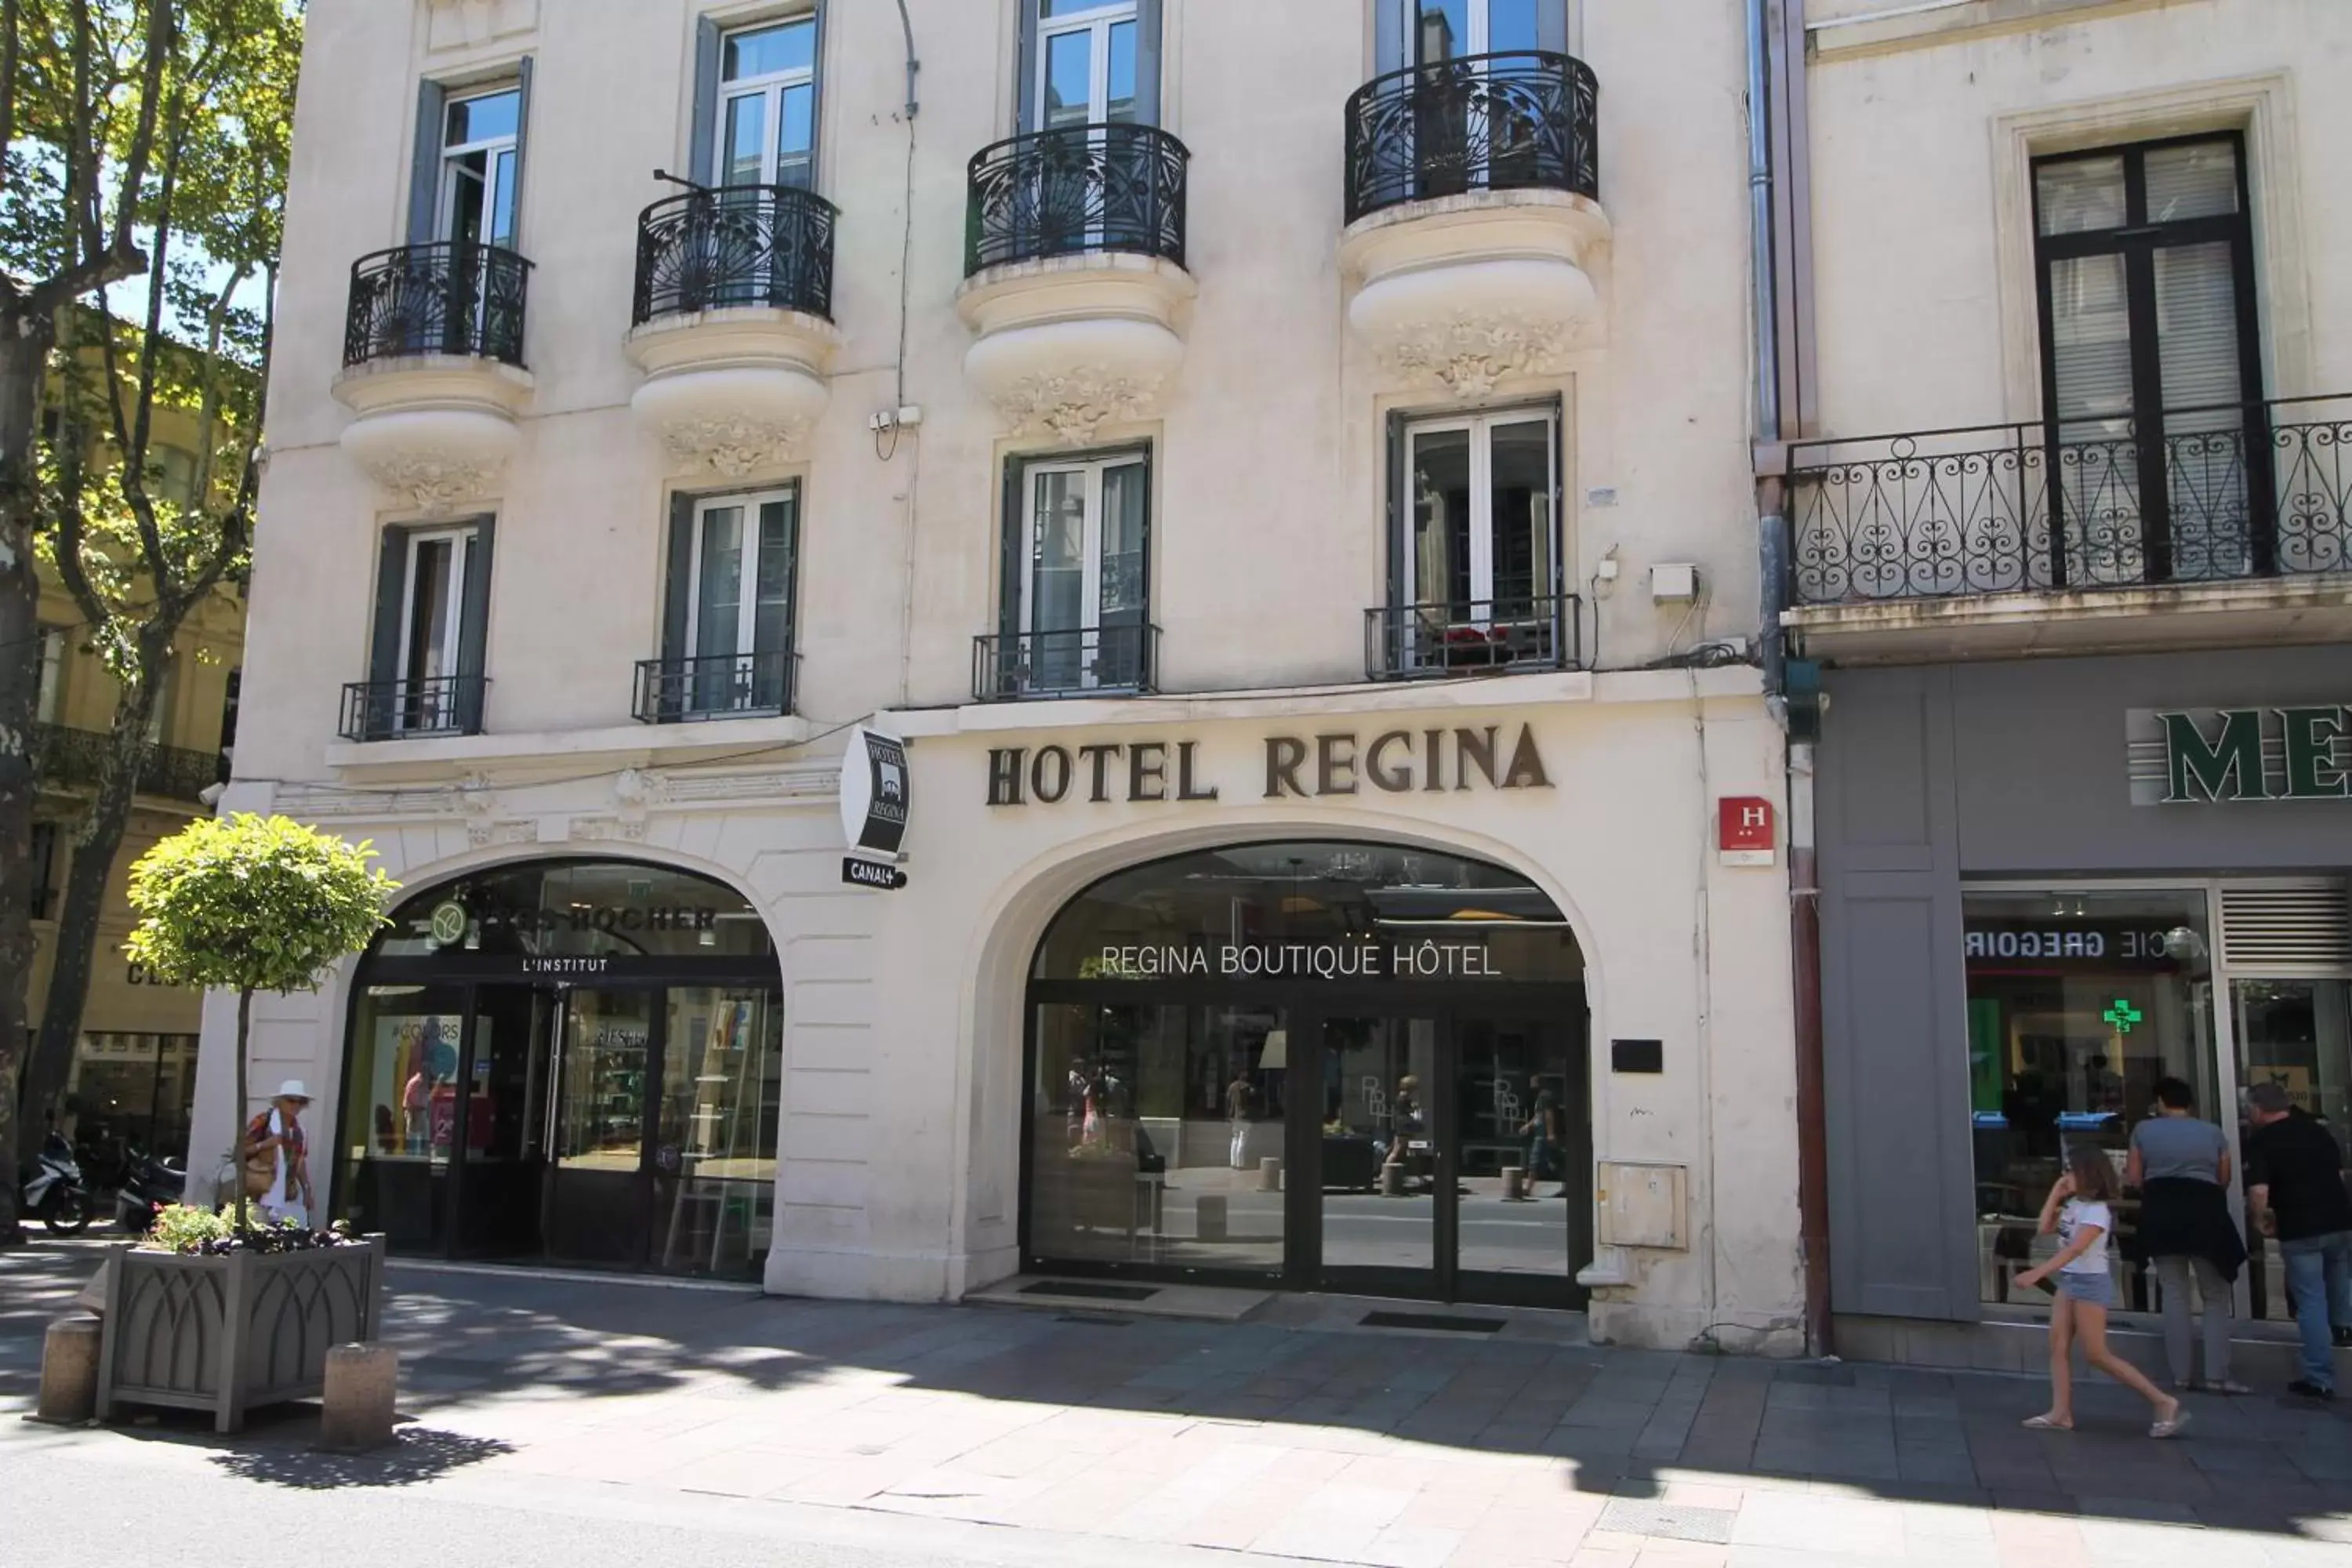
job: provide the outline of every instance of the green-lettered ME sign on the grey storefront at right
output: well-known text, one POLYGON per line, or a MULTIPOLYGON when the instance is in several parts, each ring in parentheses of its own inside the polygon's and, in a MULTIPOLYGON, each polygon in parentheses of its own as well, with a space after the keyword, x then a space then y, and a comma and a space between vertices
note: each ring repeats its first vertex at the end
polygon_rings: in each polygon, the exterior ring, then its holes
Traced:
POLYGON ((2352 710, 2133 708, 2133 806, 2352 797, 2352 710))

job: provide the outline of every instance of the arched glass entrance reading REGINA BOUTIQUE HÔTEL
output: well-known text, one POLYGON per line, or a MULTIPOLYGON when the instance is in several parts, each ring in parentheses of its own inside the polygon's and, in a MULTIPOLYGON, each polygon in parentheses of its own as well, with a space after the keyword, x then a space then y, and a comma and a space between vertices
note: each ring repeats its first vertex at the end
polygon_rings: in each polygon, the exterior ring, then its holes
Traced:
POLYGON ((1023 1267, 1581 1305, 1583 954, 1463 856, 1261 842, 1115 872, 1030 969, 1023 1267))

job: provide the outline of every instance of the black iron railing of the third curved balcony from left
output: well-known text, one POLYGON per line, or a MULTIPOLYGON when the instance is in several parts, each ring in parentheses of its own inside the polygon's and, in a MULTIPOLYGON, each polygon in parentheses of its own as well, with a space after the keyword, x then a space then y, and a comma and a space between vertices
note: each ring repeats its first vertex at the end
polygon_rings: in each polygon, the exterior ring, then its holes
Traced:
POLYGON ((1192 153, 1152 125, 1068 125, 971 158, 964 275, 1009 261, 1134 252, 1183 266, 1192 153))

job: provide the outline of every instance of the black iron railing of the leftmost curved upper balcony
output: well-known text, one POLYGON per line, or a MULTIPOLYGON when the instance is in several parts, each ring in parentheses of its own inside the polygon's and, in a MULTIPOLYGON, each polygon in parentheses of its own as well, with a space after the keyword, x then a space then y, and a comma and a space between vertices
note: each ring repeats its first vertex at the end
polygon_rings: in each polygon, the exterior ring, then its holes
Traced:
POLYGON ((480 355, 522 364, 532 263, 496 244, 400 244, 350 263, 343 364, 480 355))

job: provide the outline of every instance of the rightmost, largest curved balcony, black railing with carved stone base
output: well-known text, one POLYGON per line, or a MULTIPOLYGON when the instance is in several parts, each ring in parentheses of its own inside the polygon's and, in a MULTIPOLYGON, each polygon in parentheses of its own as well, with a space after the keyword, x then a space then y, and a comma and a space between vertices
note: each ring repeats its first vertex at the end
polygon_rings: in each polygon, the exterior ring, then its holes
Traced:
POLYGON ((1597 339, 1599 87, 1566 54, 1477 54, 1348 101, 1348 324, 1406 381, 1486 397, 1597 339))

